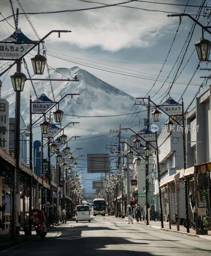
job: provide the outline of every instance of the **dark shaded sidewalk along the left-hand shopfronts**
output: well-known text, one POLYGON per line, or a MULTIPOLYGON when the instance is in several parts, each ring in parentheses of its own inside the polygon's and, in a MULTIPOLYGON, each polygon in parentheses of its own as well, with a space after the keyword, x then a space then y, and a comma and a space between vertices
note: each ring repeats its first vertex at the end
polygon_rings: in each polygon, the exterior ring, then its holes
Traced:
MULTIPOLYGON (((57 227, 59 225, 60 224, 54 224, 54 227, 57 227)), ((52 225, 51 225, 50 227, 47 228, 47 230, 49 231, 54 227, 52 227, 52 225)), ((3 231, 3 230, 1 230, 1 231, 3 231)), ((20 230, 18 241, 12 241, 11 240, 11 234, 8 234, 8 229, 4 229, 4 231, 5 231, 5 234, 0 235, 0 251, 36 238, 36 231, 35 231, 33 226, 32 226, 32 235, 31 236, 25 236, 24 231, 20 230)))

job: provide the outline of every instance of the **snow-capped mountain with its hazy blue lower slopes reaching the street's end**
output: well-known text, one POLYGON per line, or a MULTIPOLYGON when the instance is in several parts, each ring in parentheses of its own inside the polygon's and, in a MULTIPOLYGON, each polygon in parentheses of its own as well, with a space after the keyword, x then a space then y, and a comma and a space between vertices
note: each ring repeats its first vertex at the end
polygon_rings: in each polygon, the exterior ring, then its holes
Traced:
MULTIPOLYGON (((98 177, 97 174, 87 174, 87 154, 106 153, 105 145, 113 138, 110 138, 110 129, 118 129, 123 120, 129 120, 127 125, 134 121, 134 116, 127 117, 135 98, 117 88, 103 82, 99 78, 90 74, 86 70, 78 67, 50 69, 51 79, 73 79, 77 76, 79 81, 52 81, 55 100, 58 101, 68 93, 79 93, 80 95, 66 96, 60 103, 59 109, 64 111, 62 118, 62 127, 70 122, 79 122, 79 124, 70 124, 65 128, 64 133, 68 138, 80 136, 77 140, 70 140, 68 146, 71 151, 75 148, 83 148, 74 152, 73 157, 77 159, 78 167, 85 168, 83 176, 86 183, 83 188, 92 192, 92 180, 98 177), (121 115, 123 114, 123 115, 121 115), (125 119, 126 118, 126 119, 125 119), (91 176, 91 177, 90 177, 91 176)), ((42 76, 34 75, 33 78, 48 79, 45 72, 42 76)), ((54 100, 49 81, 33 81, 38 98, 45 94, 50 100, 54 100)), ((2 93, 1 97, 9 101, 10 117, 15 116, 15 92, 13 89, 2 93)), ((37 100, 30 81, 26 81, 24 91, 21 92, 21 115, 26 123, 29 124, 29 100, 32 95, 32 101, 37 100)), ((55 109, 52 109, 52 111, 55 109)), ((33 115, 33 122, 40 115, 33 115)), ((54 117, 53 117, 54 121, 54 117)), ((39 121, 41 122, 41 120, 39 121)), ((33 140, 41 140, 41 129, 39 122, 33 127, 33 140)), ((126 121, 125 121, 126 122, 126 121)), ((137 123, 137 119, 136 119, 137 123)), ((122 127, 122 126, 121 126, 122 127)), ((116 134, 117 135, 117 134, 116 134)), ((130 135, 129 135, 130 136, 130 135)), ((55 138, 56 139, 56 138, 55 138)), ((112 139, 113 140, 113 139, 112 139)), ((47 150, 44 149, 44 157, 47 157, 47 150)), ((55 164, 55 157, 51 157, 51 164, 55 164)))

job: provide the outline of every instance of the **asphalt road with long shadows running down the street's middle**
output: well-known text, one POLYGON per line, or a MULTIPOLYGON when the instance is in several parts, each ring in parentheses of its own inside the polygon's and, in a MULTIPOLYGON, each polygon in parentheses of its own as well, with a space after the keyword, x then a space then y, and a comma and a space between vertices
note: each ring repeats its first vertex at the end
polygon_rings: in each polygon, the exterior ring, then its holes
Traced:
POLYGON ((211 242, 198 237, 127 224, 109 216, 91 216, 91 222, 75 219, 52 229, 45 240, 34 239, 4 250, 1 256, 98 255, 98 256, 206 256, 211 242))

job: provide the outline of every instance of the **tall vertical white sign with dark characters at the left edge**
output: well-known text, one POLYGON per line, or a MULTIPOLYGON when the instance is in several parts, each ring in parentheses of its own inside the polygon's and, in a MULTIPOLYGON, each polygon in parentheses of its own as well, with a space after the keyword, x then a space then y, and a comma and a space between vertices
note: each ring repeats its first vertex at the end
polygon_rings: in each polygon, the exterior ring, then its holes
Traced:
POLYGON ((9 102, 0 99, 0 148, 9 153, 9 102))

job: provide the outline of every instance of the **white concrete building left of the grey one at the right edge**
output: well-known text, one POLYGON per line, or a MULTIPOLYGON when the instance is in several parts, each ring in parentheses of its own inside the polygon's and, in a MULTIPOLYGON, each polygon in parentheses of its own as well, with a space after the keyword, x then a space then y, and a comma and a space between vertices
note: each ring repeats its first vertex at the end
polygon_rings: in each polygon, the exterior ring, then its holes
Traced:
MULTIPOLYGON (((184 167, 183 164, 183 143, 182 143, 182 133, 179 129, 175 128, 171 136, 169 132, 163 130, 158 137, 158 148, 159 163, 160 163, 160 180, 164 180, 167 177, 175 174, 177 170, 181 170, 184 167)), ((153 153, 154 163, 156 165, 156 154, 153 153)), ((156 168, 156 167, 155 167, 156 168)), ((155 187, 155 205, 156 209, 159 209, 159 186, 157 179, 157 172, 154 174, 154 187, 155 187)), ((178 193, 179 202, 179 216, 180 222, 183 223, 185 219, 185 195, 184 195, 184 185, 180 184, 180 193, 178 193)), ((170 210, 171 210, 171 220, 175 223, 174 215, 177 213, 177 200, 176 193, 170 193, 170 210)), ((168 203, 168 191, 166 188, 162 188, 162 209, 164 220, 169 214, 169 203, 168 203)))

